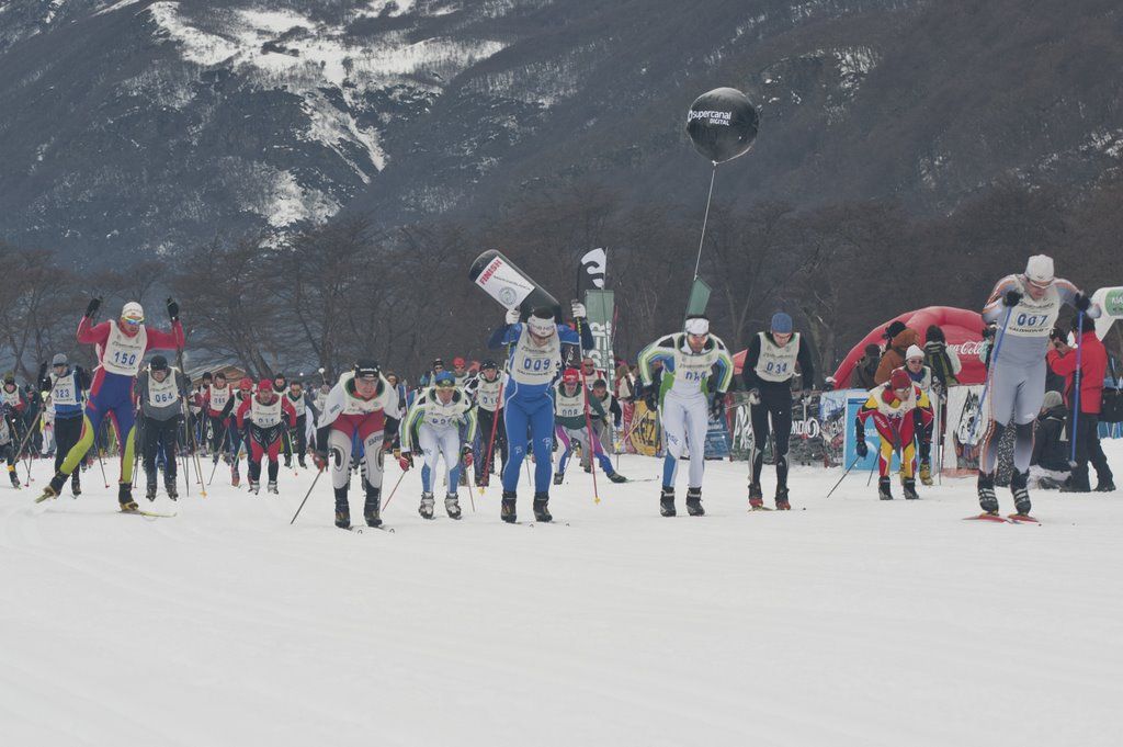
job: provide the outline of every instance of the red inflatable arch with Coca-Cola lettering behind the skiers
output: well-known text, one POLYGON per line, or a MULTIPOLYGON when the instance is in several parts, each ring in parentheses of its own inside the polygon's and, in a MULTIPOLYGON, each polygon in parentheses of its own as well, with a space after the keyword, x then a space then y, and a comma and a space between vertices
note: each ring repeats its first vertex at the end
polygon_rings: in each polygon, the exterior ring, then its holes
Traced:
POLYGON ((910 329, 920 332, 921 345, 924 343, 924 335, 929 325, 937 325, 943 329, 944 337, 948 338, 948 347, 955 348, 959 354, 959 361, 964 364, 964 370, 957 376, 960 384, 982 384, 986 380, 986 368, 979 359, 979 347, 983 343, 983 317, 976 311, 967 309, 953 309, 946 306, 930 306, 925 309, 907 311, 900 317, 894 317, 885 324, 870 330, 860 343, 855 345, 834 371, 834 381, 838 389, 847 389, 850 385, 850 372, 855 364, 865 355, 866 346, 870 343, 880 345, 885 341, 885 328, 894 321, 903 321, 910 329))

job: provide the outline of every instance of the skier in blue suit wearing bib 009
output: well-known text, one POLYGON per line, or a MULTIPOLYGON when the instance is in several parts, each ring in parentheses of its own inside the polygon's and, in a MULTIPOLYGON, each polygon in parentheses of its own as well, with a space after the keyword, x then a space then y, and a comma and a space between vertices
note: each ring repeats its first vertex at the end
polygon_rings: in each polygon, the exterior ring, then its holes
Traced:
POLYGON ((505 324, 496 329, 487 346, 510 346, 506 381, 503 385, 503 426, 510 457, 503 470, 501 518, 515 521, 515 488, 522 459, 527 456, 527 436, 535 453, 535 520, 550 521, 550 479, 554 468, 554 382, 562 371, 562 346, 593 347, 593 335, 585 322, 584 304, 573 302, 573 317, 581 335, 554 319, 553 309, 536 309, 526 322, 519 310, 506 312, 505 324), (528 430, 529 429, 529 430, 528 430))

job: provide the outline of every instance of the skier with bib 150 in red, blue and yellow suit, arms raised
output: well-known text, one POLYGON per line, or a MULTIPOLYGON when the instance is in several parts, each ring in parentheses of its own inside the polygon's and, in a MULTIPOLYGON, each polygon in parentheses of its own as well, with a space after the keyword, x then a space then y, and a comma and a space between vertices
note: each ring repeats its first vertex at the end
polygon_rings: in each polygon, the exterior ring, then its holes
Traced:
POLYGON ((100 364, 90 384, 90 398, 85 406, 82 436, 55 472, 51 483, 43 490, 39 500, 56 498, 66 477, 77 468, 85 453, 93 446, 94 434, 108 416, 117 430, 117 443, 121 445, 121 474, 117 489, 117 501, 122 511, 135 511, 133 500, 133 382, 140 372, 144 355, 148 350, 175 350, 183 347, 183 326, 180 324, 180 304, 167 299, 167 316, 172 331, 149 329, 144 324, 144 308, 129 301, 121 309, 116 321, 93 324, 93 315, 101 306, 93 299, 85 308, 85 315, 77 327, 77 341, 95 345, 100 364))

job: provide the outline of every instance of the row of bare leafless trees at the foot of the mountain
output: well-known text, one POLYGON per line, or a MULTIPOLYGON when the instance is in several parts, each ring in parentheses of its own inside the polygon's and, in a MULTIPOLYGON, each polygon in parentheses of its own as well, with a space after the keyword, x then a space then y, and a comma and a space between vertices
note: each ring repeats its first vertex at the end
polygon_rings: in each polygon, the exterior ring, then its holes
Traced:
MULTIPOLYGON (((1078 285, 1123 283, 1121 198, 1123 180, 1107 180, 1081 193, 999 184, 934 218, 887 203, 719 203, 701 272, 713 286, 714 330, 741 349, 783 309, 832 366, 902 311, 979 308, 993 283, 1033 253, 1052 254, 1058 273, 1078 285)), ((632 358, 681 324, 700 227, 696 212, 628 204, 586 184, 529 193, 487 218, 391 231, 340 220, 284 239, 216 240, 92 276, 76 276, 48 250, 0 244, 0 345, 24 376, 60 350, 90 362, 74 341, 89 297, 104 295, 108 313, 140 300, 158 320, 171 293, 183 309, 189 364, 238 363, 261 375, 323 367, 330 377, 372 355, 413 376, 437 356, 486 355, 502 309, 467 279, 481 250, 502 249, 568 299, 578 257, 605 246, 615 347, 632 358)))

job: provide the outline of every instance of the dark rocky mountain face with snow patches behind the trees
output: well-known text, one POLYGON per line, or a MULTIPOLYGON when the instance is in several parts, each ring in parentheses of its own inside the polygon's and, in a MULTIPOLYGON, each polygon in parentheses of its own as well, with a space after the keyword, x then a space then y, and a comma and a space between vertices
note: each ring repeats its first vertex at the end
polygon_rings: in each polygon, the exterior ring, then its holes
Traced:
POLYGON ((701 202, 701 92, 761 108, 719 194, 947 211, 1123 156, 1116 3, 8 0, 0 238, 161 255, 595 182, 701 202))

